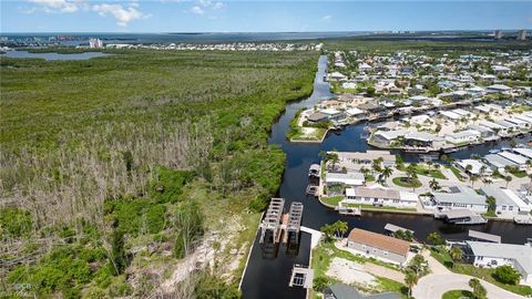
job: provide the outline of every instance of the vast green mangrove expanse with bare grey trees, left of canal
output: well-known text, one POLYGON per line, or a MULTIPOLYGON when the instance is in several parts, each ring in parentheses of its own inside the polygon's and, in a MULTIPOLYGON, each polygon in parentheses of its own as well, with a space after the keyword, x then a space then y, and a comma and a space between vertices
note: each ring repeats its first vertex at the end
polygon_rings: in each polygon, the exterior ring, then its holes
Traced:
POLYGON ((231 240, 216 276, 190 291, 238 297, 224 265, 231 248, 247 256, 260 216, 248 212, 278 189, 285 155, 268 131, 311 93, 318 53, 112 52, 0 58, 0 194, 19 205, 0 209, 6 292, 146 297, 216 230, 231 240))

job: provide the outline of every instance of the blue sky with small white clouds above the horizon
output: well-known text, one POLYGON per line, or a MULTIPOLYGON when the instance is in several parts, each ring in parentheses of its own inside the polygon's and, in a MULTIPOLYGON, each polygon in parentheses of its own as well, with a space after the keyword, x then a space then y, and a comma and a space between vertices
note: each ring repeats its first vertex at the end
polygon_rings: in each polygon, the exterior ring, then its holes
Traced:
POLYGON ((529 1, 0 0, 0 33, 532 28, 529 1))

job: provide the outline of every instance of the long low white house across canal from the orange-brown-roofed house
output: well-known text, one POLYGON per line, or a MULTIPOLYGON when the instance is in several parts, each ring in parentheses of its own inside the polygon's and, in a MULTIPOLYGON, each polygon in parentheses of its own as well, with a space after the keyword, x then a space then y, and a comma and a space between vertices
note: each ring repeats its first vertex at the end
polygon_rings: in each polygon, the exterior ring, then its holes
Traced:
POLYGON ((379 186, 355 187, 346 189, 346 199, 342 202, 351 205, 416 208, 418 204, 418 195, 379 186))

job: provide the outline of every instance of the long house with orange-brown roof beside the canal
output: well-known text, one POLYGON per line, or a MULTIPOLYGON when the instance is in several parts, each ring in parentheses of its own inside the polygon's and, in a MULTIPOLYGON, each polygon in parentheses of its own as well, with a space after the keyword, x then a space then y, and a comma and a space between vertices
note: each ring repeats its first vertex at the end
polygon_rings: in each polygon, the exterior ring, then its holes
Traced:
POLYGON ((347 247, 362 256, 401 266, 413 255, 410 252, 409 241, 360 228, 349 233, 347 247))

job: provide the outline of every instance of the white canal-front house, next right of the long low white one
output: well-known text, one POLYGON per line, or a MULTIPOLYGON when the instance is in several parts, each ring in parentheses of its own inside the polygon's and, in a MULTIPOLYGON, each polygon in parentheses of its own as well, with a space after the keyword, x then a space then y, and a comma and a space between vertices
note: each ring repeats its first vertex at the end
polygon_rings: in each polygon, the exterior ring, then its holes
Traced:
POLYGON ((488 212, 485 197, 467 186, 453 186, 449 188, 448 193, 434 192, 432 195, 432 205, 426 208, 436 207, 439 210, 469 209, 475 213, 488 212))

